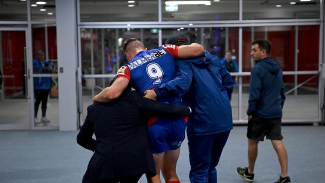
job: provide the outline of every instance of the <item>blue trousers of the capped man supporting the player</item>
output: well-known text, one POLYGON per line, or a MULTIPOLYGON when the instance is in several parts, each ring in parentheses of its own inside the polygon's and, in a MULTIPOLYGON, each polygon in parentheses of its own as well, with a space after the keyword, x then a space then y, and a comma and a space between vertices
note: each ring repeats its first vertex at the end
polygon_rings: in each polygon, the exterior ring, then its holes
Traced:
POLYGON ((192 183, 216 183, 216 165, 230 130, 202 136, 187 136, 189 180, 192 183))

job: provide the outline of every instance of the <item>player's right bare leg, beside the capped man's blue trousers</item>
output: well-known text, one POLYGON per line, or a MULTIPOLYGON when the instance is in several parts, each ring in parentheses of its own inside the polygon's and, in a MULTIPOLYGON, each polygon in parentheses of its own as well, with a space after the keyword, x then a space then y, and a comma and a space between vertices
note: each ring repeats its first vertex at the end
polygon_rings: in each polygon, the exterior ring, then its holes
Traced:
POLYGON ((180 148, 175 150, 167 150, 163 156, 163 166, 161 169, 162 176, 165 182, 178 180, 176 174, 176 163, 179 157, 180 148))

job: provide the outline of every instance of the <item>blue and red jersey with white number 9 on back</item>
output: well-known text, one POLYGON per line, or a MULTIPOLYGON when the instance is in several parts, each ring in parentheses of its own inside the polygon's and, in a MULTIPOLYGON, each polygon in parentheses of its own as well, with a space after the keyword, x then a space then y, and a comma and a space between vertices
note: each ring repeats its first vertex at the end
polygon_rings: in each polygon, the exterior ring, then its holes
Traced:
MULTIPOLYGON (((155 49, 138 52, 127 64, 121 66, 116 77, 130 80, 132 87, 143 94, 147 89, 157 87, 158 84, 175 78, 175 59, 178 46, 162 45, 155 49)), ((159 101, 180 103, 180 97, 168 96, 159 101)))

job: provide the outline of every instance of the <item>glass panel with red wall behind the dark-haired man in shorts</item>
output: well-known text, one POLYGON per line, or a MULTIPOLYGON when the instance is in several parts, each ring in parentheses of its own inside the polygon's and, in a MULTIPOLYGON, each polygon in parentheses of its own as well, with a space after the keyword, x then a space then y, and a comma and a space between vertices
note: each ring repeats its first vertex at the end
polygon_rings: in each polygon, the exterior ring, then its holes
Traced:
POLYGON ((270 56, 277 60, 283 71, 295 70, 295 32, 298 28, 298 69, 318 70, 319 26, 267 26, 244 27, 242 32, 242 71, 248 72, 254 65, 250 56, 253 39, 267 38, 272 43, 270 56), (308 42, 306 44, 305 42, 308 42))

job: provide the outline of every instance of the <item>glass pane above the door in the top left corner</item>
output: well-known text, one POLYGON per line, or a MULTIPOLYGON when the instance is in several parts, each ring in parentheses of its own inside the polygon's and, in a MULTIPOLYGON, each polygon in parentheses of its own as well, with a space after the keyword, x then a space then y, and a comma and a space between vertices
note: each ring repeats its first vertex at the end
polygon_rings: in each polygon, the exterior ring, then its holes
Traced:
POLYGON ((0 20, 27 21, 27 5, 22 0, 1 0, 0 20))

